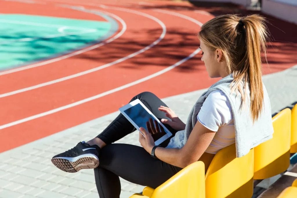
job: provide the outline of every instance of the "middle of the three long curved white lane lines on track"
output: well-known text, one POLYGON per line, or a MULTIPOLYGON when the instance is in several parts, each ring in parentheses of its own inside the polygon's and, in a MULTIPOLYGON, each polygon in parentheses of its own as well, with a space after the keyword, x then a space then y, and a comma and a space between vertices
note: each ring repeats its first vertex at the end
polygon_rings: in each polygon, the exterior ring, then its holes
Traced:
MULTIPOLYGON (((76 77, 79 77, 79 76, 82 76, 82 75, 89 74, 91 72, 96 72, 96 71, 98 71, 100 69, 104 69, 106 67, 109 67, 109 66, 115 65, 117 63, 126 61, 129 58, 132 58, 132 57, 134 57, 134 56, 136 56, 136 55, 138 55, 140 53, 145 52, 146 50, 150 49, 154 45, 157 45, 165 37, 165 34, 166 34, 166 26, 165 26, 165 24, 162 21, 160 21, 159 19, 157 19, 157 18, 155 18, 155 17, 153 17, 151 15, 148 15, 148 14, 143 13, 143 12, 138 12, 138 11, 135 11, 135 10, 131 10, 131 9, 125 9, 125 8, 107 7, 107 6, 101 6, 101 7, 109 8, 109 9, 121 10, 121 11, 124 11, 124 12, 134 13, 134 14, 137 14, 137 15, 142 15, 144 17, 150 18, 150 19, 156 21, 157 23, 159 23, 159 25, 162 27, 162 34, 160 35, 160 37, 157 40, 155 40, 150 45, 142 48, 141 50, 138 50, 137 52, 134 52, 132 54, 129 54, 128 56, 125 56, 123 58, 120 58, 120 59, 118 59, 116 61, 110 62, 108 64, 104 64, 104 65, 101 65, 101 66, 98 66, 98 67, 95 67, 93 69, 89 69, 89 70, 86 70, 86 71, 83 71, 83 72, 79 72, 77 74, 73 74, 73 75, 70 75, 70 76, 62 77, 62 78, 59 78, 59 79, 56 79, 56 80, 51 80, 51 81, 48 81, 48 82, 45 82, 45 83, 41 83, 41 84, 38 84, 38 85, 34 85, 34 86, 31 86, 31 87, 26 87, 26 88, 22 88, 22 89, 19 89, 19 90, 15 90, 15 91, 7 92, 7 93, 4 93, 4 94, 0 94, 0 98, 6 97, 6 96, 11 96, 11 95, 14 95, 14 94, 19 94, 19 93, 22 93, 22 92, 25 92, 25 91, 30 91, 30 90, 33 90, 33 89, 37 89, 37 88, 40 88, 40 87, 47 86, 47 85, 52 85, 54 83, 59 83, 59 82, 62 82, 64 80, 69 80, 69 79, 72 79, 72 78, 76 78, 76 77)), ((83 10, 83 9, 80 9, 80 10, 83 10)), ((121 22, 124 23, 124 21, 121 21, 121 22)))

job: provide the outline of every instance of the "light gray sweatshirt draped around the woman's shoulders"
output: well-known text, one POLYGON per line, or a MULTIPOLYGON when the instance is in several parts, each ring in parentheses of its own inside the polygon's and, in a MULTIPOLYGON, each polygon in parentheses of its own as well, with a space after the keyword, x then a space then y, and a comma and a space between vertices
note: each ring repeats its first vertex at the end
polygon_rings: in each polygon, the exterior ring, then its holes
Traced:
MULTIPOLYGON (((268 97, 267 90, 263 84, 263 93, 264 93, 264 101, 263 101, 263 110, 259 116, 259 119, 252 123, 251 113, 250 113, 250 91, 248 86, 247 89, 247 102, 239 110, 241 104, 241 95, 238 94, 236 96, 236 91, 233 91, 231 94, 230 83, 233 81, 233 75, 230 74, 217 83, 211 85, 211 87, 205 91, 200 98, 195 103, 192 108, 189 117, 186 123, 186 129, 182 131, 178 131, 174 137, 170 139, 170 142, 166 148, 182 148, 188 138, 190 133, 192 132, 196 120, 197 115, 202 107, 202 104, 205 98, 212 91, 220 90, 222 91, 228 98, 230 102, 230 107, 233 114, 234 128, 235 128, 235 144, 236 144, 236 157, 242 157, 249 153, 251 148, 259 145, 266 140, 272 138, 273 134, 273 126, 272 126, 272 118, 271 118, 271 105, 268 97)), ((241 83, 241 86, 243 83, 241 83)))

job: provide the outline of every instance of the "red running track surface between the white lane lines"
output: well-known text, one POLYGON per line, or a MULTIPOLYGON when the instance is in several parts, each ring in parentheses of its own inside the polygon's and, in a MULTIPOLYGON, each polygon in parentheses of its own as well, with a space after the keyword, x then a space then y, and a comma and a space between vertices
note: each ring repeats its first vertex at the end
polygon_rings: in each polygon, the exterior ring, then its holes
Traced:
MULTIPOLYGON (((1 1, 0 13, 23 13, 102 20, 98 15, 58 7, 58 1, 43 1, 44 4, 1 1)), ((79 3, 76 4, 75 1, 67 1, 68 3, 65 0, 60 1, 61 4, 80 5, 79 3)), ((92 3, 91 0, 88 2, 92 3)), ((98 4, 97 1, 96 3, 98 4)), ((102 3, 104 4, 104 2, 102 3)), ((109 1, 108 3, 109 6, 138 10, 158 18, 167 28, 164 39, 151 49, 105 69, 60 83, 0 98, 0 125, 62 107, 131 83, 175 64, 198 48, 199 41, 196 34, 200 27, 197 24, 184 18, 156 12, 153 10, 154 8, 178 12, 195 18, 202 23, 205 23, 214 16, 194 12, 195 9, 205 10, 214 14, 220 12, 217 8, 193 7, 186 2, 142 1, 139 4, 137 1, 109 1)), ((126 32, 113 42, 86 53, 43 66, 1 75, 0 82, 2 86, 0 87, 0 94, 48 82, 110 63, 150 45, 162 33, 162 28, 156 21, 144 16, 114 9, 104 9, 93 5, 81 4, 81 6, 87 9, 111 12, 121 17, 127 24, 126 32)), ((297 64, 297 58, 294 56, 297 42, 293 37, 294 31, 296 34, 296 26, 281 20, 273 20, 274 26, 278 28, 281 26, 282 30, 287 28, 291 31, 284 37, 276 28, 269 26, 274 38, 282 40, 282 42, 271 42, 271 46, 268 48, 270 69, 264 64, 264 74, 278 72, 297 64), (291 27, 288 28, 288 25, 291 27)), ((122 27, 120 26, 119 28, 121 29, 122 27)), ((218 79, 208 77, 204 64, 200 61, 200 57, 200 54, 198 54, 169 72, 143 83, 125 88, 124 90, 57 113, 1 129, 0 139, 2 140, 2 144, 0 146, 0 152, 112 113, 126 104, 135 94, 142 91, 152 91, 160 98, 163 98, 207 88, 218 79)))

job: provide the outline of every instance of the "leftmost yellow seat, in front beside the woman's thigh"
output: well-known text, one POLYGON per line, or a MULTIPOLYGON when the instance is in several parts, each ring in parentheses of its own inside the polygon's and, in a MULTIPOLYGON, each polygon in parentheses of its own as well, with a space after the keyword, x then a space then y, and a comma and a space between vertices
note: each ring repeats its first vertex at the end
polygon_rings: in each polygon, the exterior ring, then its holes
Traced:
POLYGON ((180 198, 205 197, 205 167, 202 161, 196 161, 162 183, 156 189, 146 187, 143 195, 133 194, 130 198, 180 198))

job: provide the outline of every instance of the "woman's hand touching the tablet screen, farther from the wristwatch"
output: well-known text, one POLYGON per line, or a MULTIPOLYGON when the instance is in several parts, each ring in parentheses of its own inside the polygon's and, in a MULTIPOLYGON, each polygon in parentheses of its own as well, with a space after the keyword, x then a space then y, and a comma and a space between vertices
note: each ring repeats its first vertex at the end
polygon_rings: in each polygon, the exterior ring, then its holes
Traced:
POLYGON ((168 107, 164 107, 164 106, 160 106, 158 109, 159 109, 159 111, 165 112, 166 116, 171 119, 171 121, 168 119, 161 119, 162 123, 168 124, 169 126, 171 126, 171 128, 173 128, 177 131, 181 131, 186 128, 186 124, 183 123, 183 121, 181 121, 181 119, 179 119, 176 116, 176 114, 173 112, 173 110, 171 110, 168 107))

